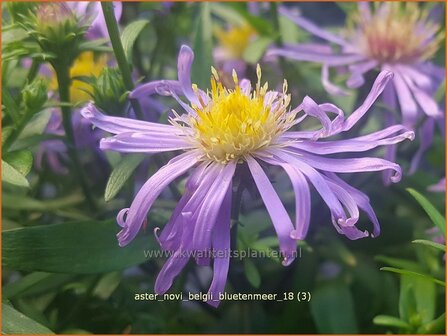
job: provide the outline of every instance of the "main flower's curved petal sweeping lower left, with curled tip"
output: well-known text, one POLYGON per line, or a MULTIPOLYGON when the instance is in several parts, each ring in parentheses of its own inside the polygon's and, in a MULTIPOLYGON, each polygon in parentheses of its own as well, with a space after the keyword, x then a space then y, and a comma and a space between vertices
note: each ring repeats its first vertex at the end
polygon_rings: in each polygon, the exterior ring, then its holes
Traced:
MULTIPOLYGON (((123 228, 117 235, 120 246, 129 244, 135 238, 158 195, 169 183, 197 163, 197 154, 192 151, 175 157, 143 185, 128 209, 125 221, 119 222, 119 225, 123 228)), ((117 217, 117 220, 122 218, 121 214, 117 217)))

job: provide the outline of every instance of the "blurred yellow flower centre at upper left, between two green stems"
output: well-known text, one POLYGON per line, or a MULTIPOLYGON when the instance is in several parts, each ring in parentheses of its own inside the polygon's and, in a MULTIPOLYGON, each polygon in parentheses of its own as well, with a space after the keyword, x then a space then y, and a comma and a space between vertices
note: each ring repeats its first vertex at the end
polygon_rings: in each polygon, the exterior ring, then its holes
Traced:
MULTIPOLYGON (((107 57, 94 57, 93 52, 83 52, 74 61, 70 68, 70 78, 72 78, 70 86, 70 102, 73 104, 85 103, 90 99, 88 92, 91 92, 91 85, 76 79, 76 77, 98 77, 102 69, 107 66, 107 57)), ((57 79, 54 75, 51 79, 50 89, 57 90, 57 79)))

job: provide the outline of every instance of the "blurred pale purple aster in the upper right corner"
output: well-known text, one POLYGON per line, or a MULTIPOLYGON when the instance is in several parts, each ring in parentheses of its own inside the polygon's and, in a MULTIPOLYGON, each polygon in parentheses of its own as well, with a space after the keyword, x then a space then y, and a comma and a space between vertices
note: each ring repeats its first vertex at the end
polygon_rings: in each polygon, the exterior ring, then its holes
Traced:
MULTIPOLYGON (((290 14, 288 8, 280 12, 302 29, 336 45, 337 50, 330 44, 303 44, 274 48, 268 54, 321 63, 322 83, 329 93, 347 94, 330 82, 330 67, 347 67, 349 88, 362 86, 368 72, 393 72, 393 80, 382 96, 384 103, 391 109, 400 107, 402 123, 408 127, 426 117, 419 131, 420 148, 410 168, 414 173, 422 154, 432 144, 434 119, 444 116, 434 95, 445 78, 445 68, 430 61, 443 39, 435 13, 424 11, 417 3, 382 2, 373 11, 369 3, 361 2, 352 20, 354 28, 335 34, 290 14)), ((394 124, 394 117, 390 115, 385 123, 394 124)), ((394 147, 389 147, 387 158, 394 161, 395 152, 394 147)))

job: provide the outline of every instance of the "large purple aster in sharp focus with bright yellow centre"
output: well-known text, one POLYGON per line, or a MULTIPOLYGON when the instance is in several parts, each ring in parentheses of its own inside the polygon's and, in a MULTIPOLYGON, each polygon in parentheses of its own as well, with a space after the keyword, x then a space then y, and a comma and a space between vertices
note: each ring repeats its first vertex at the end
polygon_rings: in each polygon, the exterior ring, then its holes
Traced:
MULTIPOLYGON (((229 268, 232 179, 239 165, 248 167, 270 214, 284 265, 293 261, 297 240, 304 239, 308 231, 310 185, 329 207, 338 232, 350 239, 367 237, 367 231, 356 227, 362 210, 373 223, 371 235, 379 234, 379 222, 368 197, 336 174, 391 170, 392 180, 398 182, 401 168, 376 157, 336 158, 332 154, 360 153, 396 144, 412 139, 413 132, 395 125, 347 140, 322 139, 346 132, 355 125, 392 78, 390 72, 384 71, 378 76, 364 103, 346 118, 337 106, 318 104, 310 97, 297 108, 289 108, 287 83, 284 82, 282 92, 269 91, 267 84, 261 86, 259 66, 254 88, 248 80, 239 81, 233 72, 234 88, 228 89, 212 69, 211 90, 204 92, 191 83, 193 58, 192 50, 183 46, 178 57, 178 80, 146 83, 130 94, 132 98, 154 93, 173 97, 185 113, 173 112, 171 125, 107 116, 93 104, 82 110, 82 115, 93 125, 115 134, 101 140, 103 150, 183 152, 149 178, 130 208, 119 212, 120 246, 135 238, 163 189, 191 171, 182 198, 158 235, 161 247, 172 254, 157 277, 157 293, 165 293, 171 287, 193 252, 210 250, 220 253, 214 258, 196 258, 196 262, 206 265, 213 261, 214 276, 209 293, 216 298, 224 290, 229 268), (316 118, 321 127, 314 131, 292 130, 306 118, 316 118), (289 176, 296 196, 295 222, 263 165, 279 166, 289 176)), ((218 305, 218 301, 209 303, 218 305)))

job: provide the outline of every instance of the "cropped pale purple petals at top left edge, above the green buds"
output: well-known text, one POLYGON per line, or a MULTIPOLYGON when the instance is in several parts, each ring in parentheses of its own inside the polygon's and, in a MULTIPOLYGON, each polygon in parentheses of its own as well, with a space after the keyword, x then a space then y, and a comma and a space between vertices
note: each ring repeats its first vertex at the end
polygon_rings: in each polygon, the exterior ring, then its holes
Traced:
MULTIPOLYGON (((69 1, 67 5, 81 18, 93 20, 87 31, 86 37, 89 40, 108 38, 106 21, 102 13, 101 2, 99 1, 69 1)), ((119 21, 123 11, 121 2, 113 2, 116 20, 119 21)))

